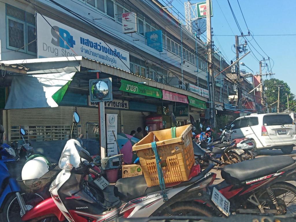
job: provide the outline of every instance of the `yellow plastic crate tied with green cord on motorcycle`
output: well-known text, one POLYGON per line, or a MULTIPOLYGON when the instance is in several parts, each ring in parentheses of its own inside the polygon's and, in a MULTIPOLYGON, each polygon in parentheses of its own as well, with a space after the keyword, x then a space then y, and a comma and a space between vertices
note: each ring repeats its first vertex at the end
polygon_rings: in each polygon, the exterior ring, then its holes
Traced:
POLYGON ((176 127, 176 138, 172 139, 171 129, 148 133, 133 145, 137 152, 148 186, 159 185, 155 155, 151 142, 156 141, 157 153, 161 159, 165 184, 187 181, 194 164, 192 125, 176 127))

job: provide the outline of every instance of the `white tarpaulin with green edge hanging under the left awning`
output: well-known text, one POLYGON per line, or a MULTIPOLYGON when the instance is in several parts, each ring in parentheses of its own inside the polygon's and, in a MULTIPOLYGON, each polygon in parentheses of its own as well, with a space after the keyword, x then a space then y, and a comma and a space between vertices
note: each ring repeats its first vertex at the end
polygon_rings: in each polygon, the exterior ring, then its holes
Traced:
POLYGON ((74 74, 49 73, 14 77, 5 109, 58 107, 74 74))

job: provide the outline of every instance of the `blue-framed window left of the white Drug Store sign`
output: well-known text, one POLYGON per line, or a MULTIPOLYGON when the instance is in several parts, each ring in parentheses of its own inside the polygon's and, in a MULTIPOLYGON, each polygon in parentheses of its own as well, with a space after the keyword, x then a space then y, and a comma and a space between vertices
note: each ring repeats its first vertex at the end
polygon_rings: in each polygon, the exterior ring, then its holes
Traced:
POLYGON ((7 49, 36 55, 35 16, 6 4, 7 49))

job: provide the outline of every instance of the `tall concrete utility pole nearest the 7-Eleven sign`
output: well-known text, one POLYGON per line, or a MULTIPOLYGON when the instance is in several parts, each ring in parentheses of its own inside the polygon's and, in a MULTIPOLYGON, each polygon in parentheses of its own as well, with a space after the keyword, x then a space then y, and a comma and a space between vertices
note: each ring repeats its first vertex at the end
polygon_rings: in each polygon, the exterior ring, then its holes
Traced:
POLYGON ((215 81, 212 70, 212 25, 211 25, 211 10, 210 10, 210 0, 206 0, 206 18, 207 18, 207 54, 208 54, 208 70, 209 70, 209 91, 210 91, 210 119, 211 124, 216 127, 215 118, 215 81))

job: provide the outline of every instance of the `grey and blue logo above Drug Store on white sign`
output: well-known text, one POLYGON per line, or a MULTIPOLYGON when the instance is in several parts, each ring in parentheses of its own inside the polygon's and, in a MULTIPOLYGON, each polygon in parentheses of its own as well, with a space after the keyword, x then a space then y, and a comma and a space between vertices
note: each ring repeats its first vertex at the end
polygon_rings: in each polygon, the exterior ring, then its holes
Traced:
POLYGON ((59 46, 64 49, 70 49, 70 47, 74 47, 75 40, 67 30, 59 28, 58 26, 52 26, 51 33, 53 37, 52 44, 55 46, 59 46))

